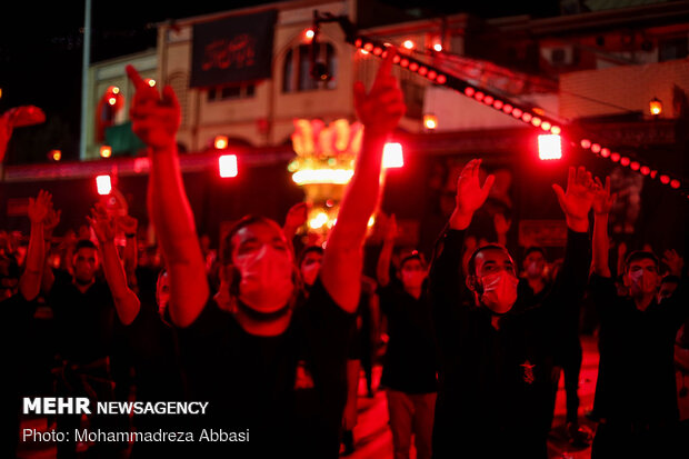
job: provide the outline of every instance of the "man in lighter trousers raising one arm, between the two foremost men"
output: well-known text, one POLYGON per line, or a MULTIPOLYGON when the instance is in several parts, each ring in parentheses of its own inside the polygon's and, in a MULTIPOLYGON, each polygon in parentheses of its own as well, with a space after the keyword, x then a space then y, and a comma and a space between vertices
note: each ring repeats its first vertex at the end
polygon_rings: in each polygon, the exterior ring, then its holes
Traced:
POLYGON ((427 269, 418 252, 400 261, 390 278, 397 237, 391 217, 378 259, 378 295, 388 318, 388 347, 380 385, 386 388, 395 459, 409 459, 411 435, 419 459, 430 459, 438 371, 431 308, 425 289, 427 269))

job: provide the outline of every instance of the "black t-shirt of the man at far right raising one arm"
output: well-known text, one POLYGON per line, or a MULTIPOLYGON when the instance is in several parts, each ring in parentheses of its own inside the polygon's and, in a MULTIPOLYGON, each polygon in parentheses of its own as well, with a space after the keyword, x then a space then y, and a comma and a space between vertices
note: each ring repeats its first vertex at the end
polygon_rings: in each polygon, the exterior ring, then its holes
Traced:
POLYGON ((609 421, 676 421, 673 345, 689 315, 687 286, 646 311, 619 297, 611 278, 593 275, 589 288, 600 316, 596 415, 609 421))

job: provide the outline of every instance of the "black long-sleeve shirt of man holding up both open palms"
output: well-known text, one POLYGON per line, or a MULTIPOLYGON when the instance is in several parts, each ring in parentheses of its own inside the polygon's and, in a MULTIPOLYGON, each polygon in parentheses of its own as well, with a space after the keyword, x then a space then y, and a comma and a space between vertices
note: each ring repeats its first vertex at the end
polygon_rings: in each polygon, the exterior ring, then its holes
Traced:
POLYGON ((590 266, 588 233, 569 231, 562 270, 540 306, 491 326, 461 278, 465 231, 448 230, 430 272, 440 348, 433 457, 547 457, 553 343, 567 310, 577 307, 590 266))

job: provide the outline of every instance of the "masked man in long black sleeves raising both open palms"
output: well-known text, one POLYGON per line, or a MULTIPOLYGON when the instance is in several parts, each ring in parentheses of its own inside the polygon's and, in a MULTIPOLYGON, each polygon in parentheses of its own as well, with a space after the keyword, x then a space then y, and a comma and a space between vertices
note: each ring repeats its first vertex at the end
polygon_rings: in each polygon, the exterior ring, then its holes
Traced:
POLYGON ((517 273, 507 249, 475 250, 460 278, 465 230, 488 197, 493 176, 479 183, 480 160, 457 182, 456 209, 430 273, 440 373, 433 457, 547 458, 552 342, 562 312, 583 295, 590 266, 588 213, 595 182, 570 168, 567 192, 555 184, 567 218, 565 265, 538 307, 518 303, 517 273))

